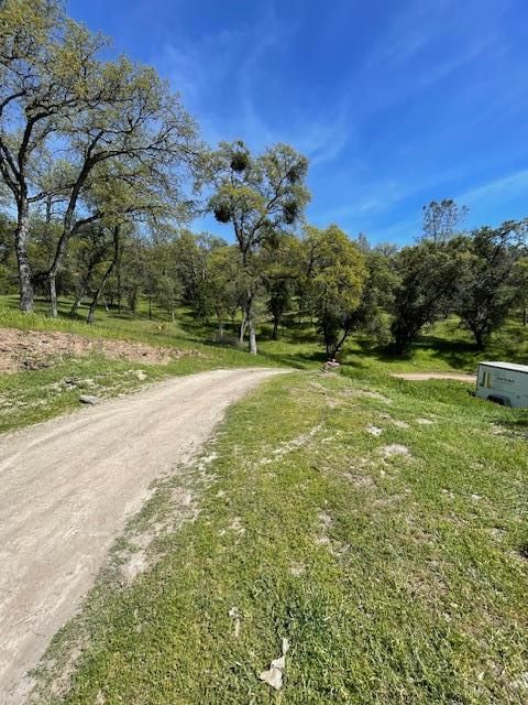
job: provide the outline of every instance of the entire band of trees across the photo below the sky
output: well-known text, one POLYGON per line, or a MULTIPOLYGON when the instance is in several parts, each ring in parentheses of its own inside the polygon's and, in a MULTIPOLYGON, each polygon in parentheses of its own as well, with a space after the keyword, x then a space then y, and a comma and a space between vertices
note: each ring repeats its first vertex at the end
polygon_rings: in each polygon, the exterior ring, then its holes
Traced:
POLYGON ((258 318, 277 336, 295 312, 333 357, 354 332, 403 352, 451 313, 483 348, 526 306, 527 220, 465 232, 464 207, 432 202, 402 250, 310 226, 306 158, 209 148, 153 68, 106 46, 56 0, 0 4, 0 290, 22 311, 35 293, 55 316, 58 295, 73 315, 88 301, 88 322, 99 303, 185 304, 253 352, 258 318), (187 229, 207 213, 233 245, 187 229))

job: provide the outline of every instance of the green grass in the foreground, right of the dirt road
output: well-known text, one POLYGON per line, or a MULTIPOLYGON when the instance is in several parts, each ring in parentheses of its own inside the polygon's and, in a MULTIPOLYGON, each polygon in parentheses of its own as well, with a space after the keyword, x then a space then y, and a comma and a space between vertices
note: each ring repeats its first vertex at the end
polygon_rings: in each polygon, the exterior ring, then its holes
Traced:
POLYGON ((457 382, 367 366, 273 379, 129 524, 36 702, 527 702, 527 432, 526 411, 457 382), (128 584, 122 565, 156 531, 128 584), (258 673, 284 637, 276 693, 258 673))

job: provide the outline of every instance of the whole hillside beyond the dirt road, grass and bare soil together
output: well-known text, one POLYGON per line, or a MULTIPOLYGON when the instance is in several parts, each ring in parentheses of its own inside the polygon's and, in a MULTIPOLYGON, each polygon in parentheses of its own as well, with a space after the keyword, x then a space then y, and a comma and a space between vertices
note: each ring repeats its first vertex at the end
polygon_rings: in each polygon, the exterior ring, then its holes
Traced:
MULTIPOLYGON (((155 311, 148 319, 139 314, 98 311, 92 325, 67 315, 50 318, 46 302, 37 302, 35 314, 21 314, 16 299, 0 299, 0 431, 43 421, 79 405, 80 394, 114 397, 142 384, 221 367, 272 366, 318 369, 324 361, 311 324, 286 318, 278 340, 271 327, 261 326, 256 360, 233 344, 235 328, 227 329, 219 344, 213 326, 207 326, 182 310, 173 323, 155 311)), ((403 357, 387 355, 362 336, 352 339, 340 356, 344 365, 373 372, 472 373, 481 359, 526 362, 525 328, 510 321, 498 332, 485 352, 475 350, 457 319, 439 323, 425 333, 403 357)))

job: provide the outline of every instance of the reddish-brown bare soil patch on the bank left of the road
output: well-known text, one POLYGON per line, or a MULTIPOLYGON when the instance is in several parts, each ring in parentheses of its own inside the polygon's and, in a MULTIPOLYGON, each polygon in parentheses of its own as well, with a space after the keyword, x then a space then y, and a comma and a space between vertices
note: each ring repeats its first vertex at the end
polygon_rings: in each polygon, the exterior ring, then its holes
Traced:
POLYGON ((166 365, 189 355, 175 348, 157 348, 133 340, 88 338, 76 333, 0 329, 0 373, 43 369, 57 359, 84 357, 92 352, 145 365, 166 365))

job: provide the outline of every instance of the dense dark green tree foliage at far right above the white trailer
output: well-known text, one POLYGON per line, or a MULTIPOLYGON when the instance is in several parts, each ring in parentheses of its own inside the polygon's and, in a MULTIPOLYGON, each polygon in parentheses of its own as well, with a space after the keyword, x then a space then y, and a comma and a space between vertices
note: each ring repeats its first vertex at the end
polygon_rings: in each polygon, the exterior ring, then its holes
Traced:
POLYGON ((389 304, 394 349, 409 348, 420 330, 449 313, 460 315, 483 349, 522 300, 527 221, 507 221, 471 236, 425 239, 395 258, 399 283, 389 304))

